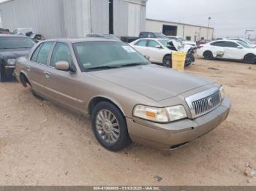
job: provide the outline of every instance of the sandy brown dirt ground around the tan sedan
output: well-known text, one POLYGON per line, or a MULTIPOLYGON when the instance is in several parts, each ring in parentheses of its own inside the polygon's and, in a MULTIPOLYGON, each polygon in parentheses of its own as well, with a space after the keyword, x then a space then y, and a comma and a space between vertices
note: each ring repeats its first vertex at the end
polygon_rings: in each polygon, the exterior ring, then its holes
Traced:
POLYGON ((256 65, 197 59, 186 72, 221 82, 233 108, 218 128, 173 152, 138 144, 109 152, 85 117, 18 82, 1 83, 0 185, 256 185, 256 175, 244 175, 246 164, 256 169, 256 65))

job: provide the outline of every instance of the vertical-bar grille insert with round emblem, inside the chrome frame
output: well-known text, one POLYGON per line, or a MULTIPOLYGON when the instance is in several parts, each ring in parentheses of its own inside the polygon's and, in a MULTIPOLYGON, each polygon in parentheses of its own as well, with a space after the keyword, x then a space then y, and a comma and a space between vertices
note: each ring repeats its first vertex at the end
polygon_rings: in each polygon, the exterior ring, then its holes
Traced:
POLYGON ((193 101, 192 105, 195 109, 195 116, 199 117, 203 114, 211 112, 211 110, 215 109, 220 104, 220 93, 214 93, 206 98, 199 99, 197 101, 193 101))

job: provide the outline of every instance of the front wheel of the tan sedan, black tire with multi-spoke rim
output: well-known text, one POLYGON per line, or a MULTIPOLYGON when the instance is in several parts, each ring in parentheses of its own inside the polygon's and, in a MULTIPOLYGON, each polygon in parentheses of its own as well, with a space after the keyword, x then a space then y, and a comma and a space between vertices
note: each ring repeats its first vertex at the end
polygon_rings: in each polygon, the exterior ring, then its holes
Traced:
POLYGON ((131 142, 127 122, 119 109, 107 101, 94 107, 91 124, 99 144, 110 151, 119 151, 131 142))

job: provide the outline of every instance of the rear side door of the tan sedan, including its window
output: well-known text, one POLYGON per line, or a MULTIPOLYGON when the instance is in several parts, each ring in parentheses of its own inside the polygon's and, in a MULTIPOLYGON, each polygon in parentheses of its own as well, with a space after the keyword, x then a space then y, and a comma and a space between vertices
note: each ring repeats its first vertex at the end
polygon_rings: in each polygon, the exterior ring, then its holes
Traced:
POLYGON ((36 93, 46 95, 45 92, 45 69, 48 68, 48 55, 53 46, 53 42, 45 42, 39 45, 31 56, 26 72, 36 93))

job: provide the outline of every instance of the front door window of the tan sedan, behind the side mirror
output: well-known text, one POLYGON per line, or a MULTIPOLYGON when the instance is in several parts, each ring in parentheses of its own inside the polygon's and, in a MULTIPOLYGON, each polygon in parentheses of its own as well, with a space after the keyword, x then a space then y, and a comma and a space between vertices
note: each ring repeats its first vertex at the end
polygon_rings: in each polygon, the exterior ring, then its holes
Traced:
POLYGON ((72 65, 72 56, 67 44, 57 42, 53 50, 53 55, 50 59, 50 66, 55 67, 55 63, 59 61, 66 61, 72 65))

